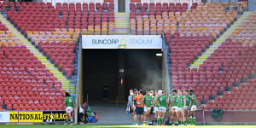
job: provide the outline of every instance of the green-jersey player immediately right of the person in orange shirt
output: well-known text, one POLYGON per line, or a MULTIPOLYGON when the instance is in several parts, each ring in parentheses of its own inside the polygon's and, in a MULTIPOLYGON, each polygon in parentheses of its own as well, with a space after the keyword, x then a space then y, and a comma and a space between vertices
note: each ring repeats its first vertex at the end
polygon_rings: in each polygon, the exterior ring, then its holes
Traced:
POLYGON ((153 107, 153 98, 152 96, 150 96, 150 90, 146 90, 146 95, 144 96, 144 122, 143 125, 148 125, 147 121, 148 121, 148 116, 151 110, 151 107, 153 107))

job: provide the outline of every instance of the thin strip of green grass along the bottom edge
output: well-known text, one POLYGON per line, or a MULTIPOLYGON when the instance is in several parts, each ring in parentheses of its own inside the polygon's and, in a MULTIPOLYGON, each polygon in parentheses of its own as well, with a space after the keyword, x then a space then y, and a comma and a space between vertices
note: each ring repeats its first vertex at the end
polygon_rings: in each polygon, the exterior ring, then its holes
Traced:
POLYGON ((178 127, 178 128, 256 128, 256 125, 196 125, 196 126, 143 126, 143 125, 0 125, 0 128, 162 128, 162 127, 178 127))

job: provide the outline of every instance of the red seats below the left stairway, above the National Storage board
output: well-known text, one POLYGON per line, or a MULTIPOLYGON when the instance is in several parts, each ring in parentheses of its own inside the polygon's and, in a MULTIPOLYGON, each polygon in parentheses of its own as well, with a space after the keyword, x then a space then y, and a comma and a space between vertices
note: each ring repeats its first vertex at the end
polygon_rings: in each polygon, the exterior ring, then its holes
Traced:
MULTIPOLYGON (((53 102, 54 99, 64 98, 65 90, 61 90, 61 82, 24 45, 3 45, 0 56, 0 106, 6 105, 9 110, 32 110, 32 104, 45 104, 37 102, 40 99, 53 102)), ((56 108, 61 109, 60 106, 53 109, 56 108)))

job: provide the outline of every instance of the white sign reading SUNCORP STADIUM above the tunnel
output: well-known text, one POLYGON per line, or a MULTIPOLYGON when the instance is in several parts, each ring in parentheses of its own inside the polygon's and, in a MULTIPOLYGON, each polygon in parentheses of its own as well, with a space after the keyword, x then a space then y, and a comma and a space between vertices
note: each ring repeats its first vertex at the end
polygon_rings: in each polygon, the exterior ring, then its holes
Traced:
POLYGON ((160 35, 83 35, 83 49, 162 49, 160 35))

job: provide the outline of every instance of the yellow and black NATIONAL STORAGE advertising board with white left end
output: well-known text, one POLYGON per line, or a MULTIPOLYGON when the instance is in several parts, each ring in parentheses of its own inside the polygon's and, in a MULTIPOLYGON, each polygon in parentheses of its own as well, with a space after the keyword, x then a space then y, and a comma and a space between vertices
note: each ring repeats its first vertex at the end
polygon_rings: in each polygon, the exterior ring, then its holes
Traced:
POLYGON ((66 111, 1 111, 0 123, 44 123, 63 122, 66 111))

